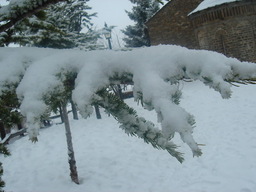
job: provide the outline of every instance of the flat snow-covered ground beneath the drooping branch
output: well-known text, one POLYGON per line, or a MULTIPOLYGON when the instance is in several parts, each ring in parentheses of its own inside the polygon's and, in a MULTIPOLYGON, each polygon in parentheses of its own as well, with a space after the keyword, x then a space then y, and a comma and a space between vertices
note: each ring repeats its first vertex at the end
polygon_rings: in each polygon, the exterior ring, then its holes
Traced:
MULTIPOLYGON (((128 137, 116 120, 93 114, 71 120, 80 185, 71 182, 63 124, 40 130, 39 142, 28 136, 10 142, 12 156, 4 158, 6 191, 12 192, 255 192, 256 85, 232 87, 232 98, 201 82, 184 83, 180 105, 196 117, 194 138, 204 153, 184 152, 180 164, 168 152, 142 139, 128 137)), ((125 100, 140 116, 156 123, 156 114, 125 100)), ((70 113, 72 119, 72 113, 70 113)), ((58 120, 56 120, 58 121, 58 120)), ((156 123, 157 124, 157 123, 156 123)))

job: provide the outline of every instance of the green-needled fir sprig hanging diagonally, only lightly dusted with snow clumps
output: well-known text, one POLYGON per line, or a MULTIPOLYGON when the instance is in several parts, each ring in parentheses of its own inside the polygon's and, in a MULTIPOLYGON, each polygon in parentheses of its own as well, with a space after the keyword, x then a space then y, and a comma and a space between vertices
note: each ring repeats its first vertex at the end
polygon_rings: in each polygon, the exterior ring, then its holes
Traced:
POLYGON ((122 124, 120 128, 124 129, 128 135, 138 136, 158 150, 167 150, 180 163, 184 161, 182 153, 176 151, 178 146, 169 142, 171 138, 164 139, 161 130, 152 122, 138 117, 134 108, 128 106, 115 94, 106 91, 106 88, 102 88, 96 94, 102 97, 102 100, 96 100, 92 104, 104 108, 106 113, 118 120, 122 124))

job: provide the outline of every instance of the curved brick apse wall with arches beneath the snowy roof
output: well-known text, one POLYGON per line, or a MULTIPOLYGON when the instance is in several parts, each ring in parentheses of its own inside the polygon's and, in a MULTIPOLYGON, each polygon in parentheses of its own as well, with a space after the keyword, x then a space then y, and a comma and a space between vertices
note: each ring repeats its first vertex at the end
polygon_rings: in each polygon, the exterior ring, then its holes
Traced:
POLYGON ((190 18, 199 49, 256 62, 256 1, 222 4, 190 18))

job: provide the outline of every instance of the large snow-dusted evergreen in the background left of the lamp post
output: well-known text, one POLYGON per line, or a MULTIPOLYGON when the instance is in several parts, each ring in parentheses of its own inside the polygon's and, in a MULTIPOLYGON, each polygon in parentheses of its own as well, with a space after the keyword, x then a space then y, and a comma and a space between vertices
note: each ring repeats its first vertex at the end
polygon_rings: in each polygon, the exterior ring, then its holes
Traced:
POLYGON ((88 14, 86 12, 91 9, 86 2, 88 0, 69 0, 50 6, 45 10, 44 22, 35 21, 37 25, 30 25, 22 35, 29 40, 23 40, 20 44, 56 49, 97 49, 96 41, 99 34, 92 30, 93 24, 90 22, 96 13, 88 14), (45 23, 52 25, 52 28, 45 28, 45 23), (83 28, 87 28, 88 32, 82 33, 83 28))

